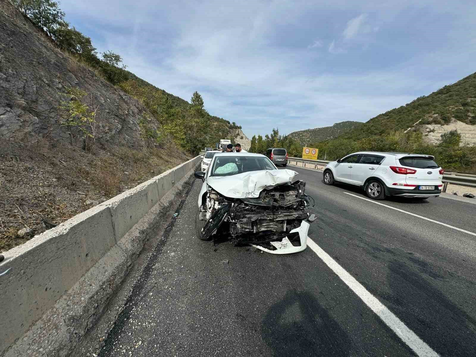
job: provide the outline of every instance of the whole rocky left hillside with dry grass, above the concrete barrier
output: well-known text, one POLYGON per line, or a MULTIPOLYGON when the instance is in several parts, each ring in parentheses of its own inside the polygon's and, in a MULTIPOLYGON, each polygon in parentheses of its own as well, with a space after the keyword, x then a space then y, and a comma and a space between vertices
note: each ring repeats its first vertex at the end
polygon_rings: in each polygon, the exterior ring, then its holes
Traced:
MULTIPOLYGON (((59 50, 7 0, 0 33, 0 252, 191 158, 158 138, 157 108, 59 50)), ((190 104, 155 89, 183 121, 190 104)), ((238 129, 209 117, 217 137, 238 129)))

